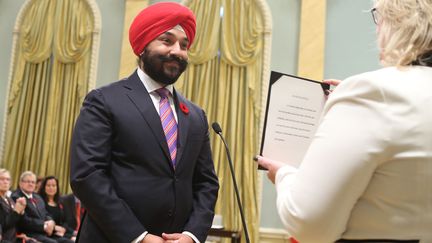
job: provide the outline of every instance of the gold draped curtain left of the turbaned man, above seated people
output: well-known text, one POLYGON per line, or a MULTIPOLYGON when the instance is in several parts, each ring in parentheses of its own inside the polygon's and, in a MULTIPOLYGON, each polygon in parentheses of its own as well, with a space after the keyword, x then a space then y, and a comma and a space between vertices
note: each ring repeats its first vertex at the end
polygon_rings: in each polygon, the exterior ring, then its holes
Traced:
POLYGON ((72 128, 94 78, 94 10, 85 0, 33 0, 21 15, 2 164, 14 185, 31 170, 57 176, 62 192, 70 192, 72 128))

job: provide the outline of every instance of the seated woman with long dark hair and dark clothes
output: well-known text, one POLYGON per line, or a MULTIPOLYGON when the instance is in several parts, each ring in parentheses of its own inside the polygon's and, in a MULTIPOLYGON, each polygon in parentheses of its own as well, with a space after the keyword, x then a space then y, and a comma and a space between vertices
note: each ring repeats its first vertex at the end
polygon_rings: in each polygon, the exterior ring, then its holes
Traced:
POLYGON ((60 203, 58 179, 54 176, 45 177, 39 188, 39 195, 44 200, 45 208, 56 224, 54 235, 75 241, 74 229, 66 223, 64 208, 60 203))

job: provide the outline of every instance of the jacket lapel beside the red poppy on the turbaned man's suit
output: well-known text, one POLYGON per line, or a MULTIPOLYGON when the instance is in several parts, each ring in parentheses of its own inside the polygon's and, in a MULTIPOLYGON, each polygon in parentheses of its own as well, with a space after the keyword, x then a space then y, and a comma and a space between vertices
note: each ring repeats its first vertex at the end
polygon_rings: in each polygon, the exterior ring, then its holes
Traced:
POLYGON ((181 96, 176 90, 174 90, 174 103, 176 107, 177 119, 178 119, 178 137, 177 137, 177 167, 181 166, 181 157, 183 155, 186 139, 189 131, 189 114, 185 114, 180 107, 180 103, 187 104, 186 99, 181 96))

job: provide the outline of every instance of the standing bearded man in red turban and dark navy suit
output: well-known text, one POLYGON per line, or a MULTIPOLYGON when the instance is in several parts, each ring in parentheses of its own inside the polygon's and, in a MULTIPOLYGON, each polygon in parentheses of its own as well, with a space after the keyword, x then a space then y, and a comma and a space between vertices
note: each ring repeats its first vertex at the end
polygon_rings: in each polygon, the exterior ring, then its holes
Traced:
POLYGON ((78 242, 204 243, 219 189, 209 128, 173 87, 194 35, 188 8, 149 6, 129 30, 139 68, 85 98, 71 144, 71 187, 87 210, 78 242))

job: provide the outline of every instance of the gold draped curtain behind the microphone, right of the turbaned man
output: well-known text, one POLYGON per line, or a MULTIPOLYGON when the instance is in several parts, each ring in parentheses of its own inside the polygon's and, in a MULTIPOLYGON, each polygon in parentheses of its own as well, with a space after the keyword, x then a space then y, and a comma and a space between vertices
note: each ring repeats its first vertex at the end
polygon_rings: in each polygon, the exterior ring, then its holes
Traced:
MULTIPOLYGON (((197 36, 189 51, 190 65, 176 84, 203 107, 210 123, 217 121, 223 128, 251 242, 258 242, 260 222, 258 173, 252 157, 259 152, 264 52, 263 13, 256 2, 185 2, 196 14, 197 36)), ((221 184, 216 213, 223 216, 225 228, 242 230, 225 149, 214 133, 211 143, 221 184)))

